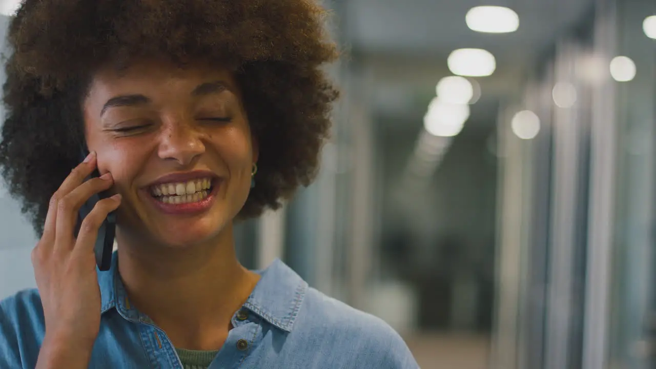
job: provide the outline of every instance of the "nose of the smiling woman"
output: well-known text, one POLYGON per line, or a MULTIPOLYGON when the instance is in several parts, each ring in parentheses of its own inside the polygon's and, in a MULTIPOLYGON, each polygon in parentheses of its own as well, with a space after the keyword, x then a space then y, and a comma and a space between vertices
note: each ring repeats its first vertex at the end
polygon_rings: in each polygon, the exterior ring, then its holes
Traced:
POLYGON ((205 152, 201 133, 194 124, 177 119, 165 125, 157 154, 164 160, 174 160, 180 165, 189 165, 205 152))

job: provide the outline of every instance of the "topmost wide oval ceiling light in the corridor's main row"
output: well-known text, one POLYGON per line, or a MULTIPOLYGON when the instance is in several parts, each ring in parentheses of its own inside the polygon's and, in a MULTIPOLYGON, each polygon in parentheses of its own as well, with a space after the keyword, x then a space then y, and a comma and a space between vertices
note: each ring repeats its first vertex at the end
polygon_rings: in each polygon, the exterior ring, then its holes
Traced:
POLYGON ((520 27, 520 17, 506 7, 474 7, 464 18, 467 26, 477 32, 508 33, 520 27))

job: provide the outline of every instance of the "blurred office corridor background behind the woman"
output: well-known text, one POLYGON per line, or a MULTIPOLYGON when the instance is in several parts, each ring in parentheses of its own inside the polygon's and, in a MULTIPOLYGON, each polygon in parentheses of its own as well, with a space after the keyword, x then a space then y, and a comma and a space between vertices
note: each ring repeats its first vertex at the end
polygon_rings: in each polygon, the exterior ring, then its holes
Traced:
MULTIPOLYGON (((283 259, 424 369, 656 367, 656 1, 323 3, 333 137, 239 225, 243 264, 283 259)), ((34 285, 19 212, 0 187, 0 298, 34 285)))

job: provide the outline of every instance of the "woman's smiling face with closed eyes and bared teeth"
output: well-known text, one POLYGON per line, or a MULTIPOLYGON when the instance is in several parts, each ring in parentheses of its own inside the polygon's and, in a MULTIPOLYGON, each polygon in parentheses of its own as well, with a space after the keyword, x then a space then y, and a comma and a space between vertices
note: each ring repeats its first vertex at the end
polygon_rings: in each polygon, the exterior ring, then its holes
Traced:
POLYGON ((217 238, 239 213, 257 151, 228 70, 155 60, 103 68, 83 112, 87 146, 123 196, 122 233, 192 246, 217 238))

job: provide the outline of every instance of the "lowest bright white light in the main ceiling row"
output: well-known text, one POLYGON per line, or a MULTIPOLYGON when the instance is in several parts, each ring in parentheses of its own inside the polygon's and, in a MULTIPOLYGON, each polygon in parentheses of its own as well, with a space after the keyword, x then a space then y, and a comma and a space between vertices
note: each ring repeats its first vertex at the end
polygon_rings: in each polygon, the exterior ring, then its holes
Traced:
POLYGON ((462 131, 469 114, 468 104, 450 104, 436 97, 428 105, 424 128, 434 136, 453 137, 462 131))

